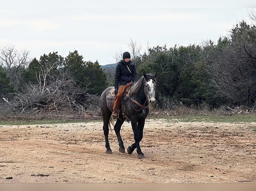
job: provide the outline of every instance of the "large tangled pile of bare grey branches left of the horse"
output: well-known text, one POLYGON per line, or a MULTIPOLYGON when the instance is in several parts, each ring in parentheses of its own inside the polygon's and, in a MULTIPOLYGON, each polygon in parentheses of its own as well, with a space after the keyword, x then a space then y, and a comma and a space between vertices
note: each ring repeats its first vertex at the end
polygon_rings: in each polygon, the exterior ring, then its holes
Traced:
POLYGON ((82 92, 68 71, 52 73, 51 70, 55 70, 54 66, 55 63, 41 69, 37 75, 37 85, 26 85, 21 93, 12 94, 8 102, 10 109, 30 116, 39 111, 85 114, 90 110, 96 113, 99 109, 100 96, 82 92))

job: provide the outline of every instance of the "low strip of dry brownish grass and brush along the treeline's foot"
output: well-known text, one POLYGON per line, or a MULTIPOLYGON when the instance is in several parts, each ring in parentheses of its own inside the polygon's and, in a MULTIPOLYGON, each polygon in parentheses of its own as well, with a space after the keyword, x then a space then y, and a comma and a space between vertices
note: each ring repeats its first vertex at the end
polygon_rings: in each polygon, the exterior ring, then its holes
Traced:
MULTIPOLYGON (((84 113, 74 113, 70 109, 61 110, 59 112, 40 111, 34 113, 33 110, 26 113, 14 112, 7 105, 7 103, 0 104, 0 120, 11 119, 25 119, 25 120, 41 120, 41 119, 86 119, 86 118, 101 118, 100 108, 87 110, 84 113)), ((200 115, 217 115, 217 116, 231 116, 231 115, 256 115, 253 109, 245 109, 243 106, 231 108, 229 106, 222 106, 220 108, 209 109, 208 107, 197 109, 186 107, 184 105, 176 105, 172 109, 160 109, 150 107, 150 116, 200 116, 200 115)))

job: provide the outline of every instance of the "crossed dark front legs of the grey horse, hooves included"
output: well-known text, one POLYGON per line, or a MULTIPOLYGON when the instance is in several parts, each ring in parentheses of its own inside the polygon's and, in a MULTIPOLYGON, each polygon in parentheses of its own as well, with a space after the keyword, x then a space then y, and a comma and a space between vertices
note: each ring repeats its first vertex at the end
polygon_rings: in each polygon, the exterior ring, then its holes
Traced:
POLYGON ((128 154, 132 154, 134 149, 137 148, 138 158, 145 158, 145 155, 143 154, 140 148, 140 141, 142 140, 142 137, 143 137, 143 127, 145 124, 145 119, 139 120, 138 124, 137 124, 137 121, 135 122, 132 121, 131 123, 132 123, 132 130, 134 134, 135 143, 133 143, 131 146, 127 148, 127 152, 128 154))

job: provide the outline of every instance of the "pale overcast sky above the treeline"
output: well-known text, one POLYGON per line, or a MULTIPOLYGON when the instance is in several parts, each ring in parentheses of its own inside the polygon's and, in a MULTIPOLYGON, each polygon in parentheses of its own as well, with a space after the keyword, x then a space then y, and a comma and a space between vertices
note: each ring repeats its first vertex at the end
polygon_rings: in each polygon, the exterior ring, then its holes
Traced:
POLYGON ((84 61, 116 63, 136 42, 167 48, 217 42, 237 23, 250 23, 252 0, 2 0, 0 48, 12 45, 39 60, 78 51, 84 61))

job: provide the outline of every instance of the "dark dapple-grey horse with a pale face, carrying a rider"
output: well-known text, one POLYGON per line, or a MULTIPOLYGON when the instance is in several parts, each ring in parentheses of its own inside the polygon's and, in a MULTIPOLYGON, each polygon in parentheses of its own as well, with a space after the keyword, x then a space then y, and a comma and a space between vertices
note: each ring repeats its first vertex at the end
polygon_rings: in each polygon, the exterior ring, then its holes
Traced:
MULTIPOLYGON (((134 140, 131 146, 127 148, 128 154, 132 154, 135 148, 137 148, 138 158, 145 158, 145 155, 141 151, 140 141, 143 137, 143 128, 145 125, 145 118, 149 113, 149 105, 155 103, 155 86, 156 75, 146 74, 143 72, 143 76, 138 80, 136 84, 130 87, 127 95, 123 95, 122 104, 120 103, 121 110, 119 116, 116 119, 114 130, 118 139, 119 152, 125 153, 124 143, 120 135, 120 129, 124 121, 131 122, 134 140)), ((114 99, 114 87, 108 87, 103 91, 100 97, 100 108, 103 118, 103 131, 105 136, 106 153, 112 154, 110 148, 108 134, 110 122, 113 124, 113 99, 114 99), (112 94, 112 95, 111 95, 112 94)))

